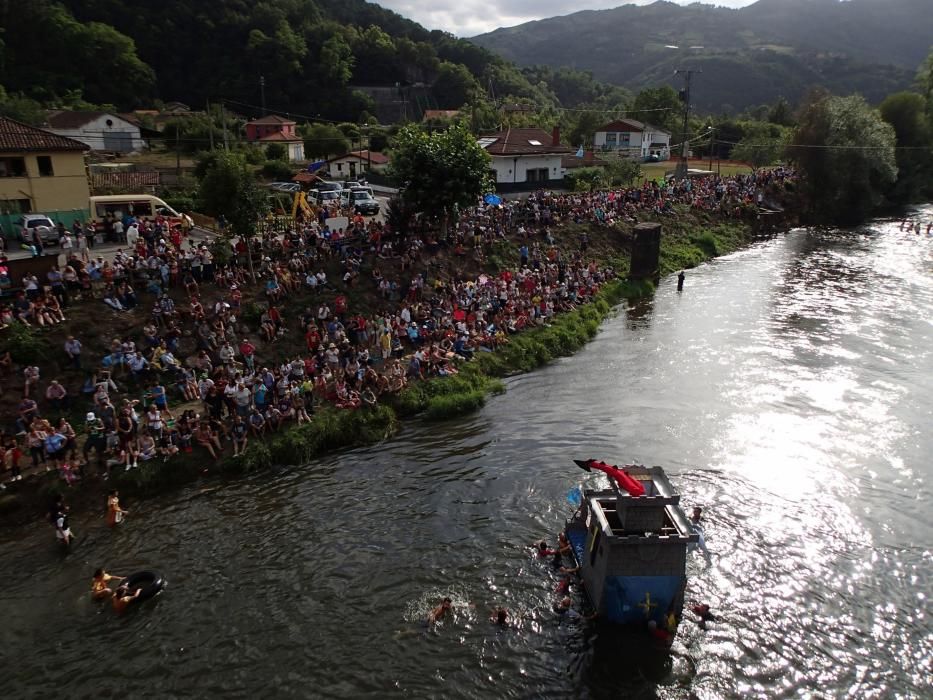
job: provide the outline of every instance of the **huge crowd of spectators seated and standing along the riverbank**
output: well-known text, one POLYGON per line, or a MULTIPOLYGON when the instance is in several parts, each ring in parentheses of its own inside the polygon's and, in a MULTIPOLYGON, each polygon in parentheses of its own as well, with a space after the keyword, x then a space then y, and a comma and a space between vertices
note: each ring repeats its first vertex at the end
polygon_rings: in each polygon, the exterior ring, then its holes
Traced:
MULTIPOLYGON (((663 216, 675 204, 741 215, 789 177, 776 170, 538 192, 478 205, 446 237, 361 216, 331 227, 321 217, 226 249, 196 244, 159 220, 127 220, 125 249, 105 259, 68 246, 62 269, 52 267, 45 280, 28 276, 0 307, 0 325, 51 327, 67 322, 72 305, 98 304, 101 313, 134 314, 140 327, 91 358, 86 346, 100 348, 99 340, 70 328, 59 365, 76 381, 43 383, 38 366, 24 367, 0 465, 14 479, 27 466, 57 469, 71 484, 91 463, 106 478, 114 468, 193 450, 214 460, 228 448, 239 456, 323 406, 365 410, 408 382, 456 374, 475 353, 592 299, 615 271, 589 257, 586 234, 558 245, 554 227, 663 216), (467 274, 470 266, 456 262, 472 255, 482 263, 503 241, 518 253, 511 269, 467 274), (454 264, 440 262, 442 248, 454 264), (377 303, 352 303, 365 297, 361 290, 377 303)), ((9 353, 0 355, 0 382, 9 384, 13 369, 9 353)))

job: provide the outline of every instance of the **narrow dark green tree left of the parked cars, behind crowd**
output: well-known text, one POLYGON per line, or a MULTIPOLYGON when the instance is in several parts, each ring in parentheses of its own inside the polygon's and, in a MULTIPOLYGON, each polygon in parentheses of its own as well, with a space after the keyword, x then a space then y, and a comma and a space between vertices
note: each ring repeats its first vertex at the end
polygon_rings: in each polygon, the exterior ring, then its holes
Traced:
MULTIPOLYGON (((240 154, 214 153, 199 164, 199 169, 203 171, 198 189, 201 209, 211 216, 222 215, 227 220, 227 235, 243 238, 252 250, 256 224, 269 211, 268 197, 252 168, 240 154)), ((250 276, 255 279, 252 255, 247 260, 250 276)))

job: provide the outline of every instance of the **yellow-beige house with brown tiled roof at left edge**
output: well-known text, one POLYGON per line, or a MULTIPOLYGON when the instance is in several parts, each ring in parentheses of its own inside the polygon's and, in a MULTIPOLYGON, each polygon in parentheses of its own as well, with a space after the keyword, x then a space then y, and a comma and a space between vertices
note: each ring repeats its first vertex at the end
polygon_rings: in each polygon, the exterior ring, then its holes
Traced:
POLYGON ((0 117, 0 226, 11 235, 21 214, 66 225, 87 217, 87 144, 0 117))

